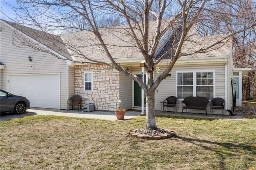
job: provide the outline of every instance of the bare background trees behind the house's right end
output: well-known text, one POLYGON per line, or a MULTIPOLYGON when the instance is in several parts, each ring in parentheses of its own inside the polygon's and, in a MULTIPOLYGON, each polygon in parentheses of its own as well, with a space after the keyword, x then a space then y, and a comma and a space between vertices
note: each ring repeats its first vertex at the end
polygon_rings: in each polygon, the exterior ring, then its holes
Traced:
MULTIPOLYGON (((206 13, 207 26, 202 26, 200 34, 232 34, 252 25, 256 20, 256 1, 236 0, 222 5, 212 6, 206 13), (225 12, 223 12, 225 11, 225 12), (207 15, 208 12, 215 16, 207 15), (215 29, 208 29, 209 27, 215 29)), ((243 77, 243 99, 256 99, 256 27, 244 30, 232 36, 233 61, 236 68, 252 68, 248 76, 243 77)))

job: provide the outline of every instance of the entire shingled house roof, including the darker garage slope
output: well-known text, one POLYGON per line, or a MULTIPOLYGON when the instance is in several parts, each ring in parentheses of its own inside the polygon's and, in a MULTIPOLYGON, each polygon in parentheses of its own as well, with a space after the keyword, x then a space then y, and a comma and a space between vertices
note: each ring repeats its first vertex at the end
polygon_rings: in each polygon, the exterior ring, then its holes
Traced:
MULTIPOLYGON (((10 26, 16 28, 20 32, 26 34, 27 36, 33 38, 34 40, 42 43, 46 47, 49 47, 53 51, 56 51, 57 53, 66 57, 67 59, 78 61, 78 62, 88 61, 82 55, 93 60, 106 61, 106 59, 108 59, 104 49, 102 49, 101 43, 98 41, 96 36, 90 31, 74 32, 74 33, 68 33, 68 34, 62 34, 60 36, 56 36, 53 34, 48 34, 46 32, 28 28, 20 24, 8 22, 5 20, 3 21, 9 24, 10 26), (68 45, 69 49, 66 48, 64 43, 68 45), (80 55, 79 53, 82 53, 82 55, 80 55)), ((163 23, 163 25, 167 23, 168 22, 163 23)), ((150 22, 150 26, 149 26, 150 36, 154 36, 155 29, 156 29, 155 22, 154 21, 150 22)), ((143 59, 140 49, 136 47, 134 40, 132 40, 132 38, 128 36, 129 28, 127 26, 104 28, 104 29, 101 29, 100 32, 106 46, 108 47, 108 50, 110 51, 114 59, 119 59, 119 61, 127 58, 129 58, 130 60, 132 60, 133 58, 143 59)), ((140 33, 136 32, 136 34, 140 34, 140 33)), ((198 49, 207 47, 208 45, 211 45, 213 42, 216 42, 216 40, 220 40, 222 36, 223 35, 198 36, 197 34, 193 34, 187 39, 187 41, 184 42, 181 53, 190 53, 191 51, 196 51, 198 49)), ((155 59, 158 59, 159 56, 161 56, 163 53, 165 53, 167 50, 169 50, 172 47, 173 40, 174 40, 174 37, 173 37, 172 30, 170 30, 169 32, 166 32, 166 34, 160 40, 158 48, 156 49, 155 59)), ((194 57, 201 58, 201 57, 229 56, 230 47, 231 47, 231 42, 228 41, 228 43, 218 44, 204 53, 196 53, 193 55, 183 56, 181 58, 186 59, 186 58, 194 58, 194 57)), ((170 57, 171 57, 171 54, 168 54, 165 58, 170 58, 170 57)))

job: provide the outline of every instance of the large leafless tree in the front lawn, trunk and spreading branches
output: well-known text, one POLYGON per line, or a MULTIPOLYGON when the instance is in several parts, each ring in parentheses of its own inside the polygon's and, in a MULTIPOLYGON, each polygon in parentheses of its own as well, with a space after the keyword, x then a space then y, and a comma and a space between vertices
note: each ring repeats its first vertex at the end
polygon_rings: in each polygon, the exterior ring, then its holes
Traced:
MULTIPOLYGON (((50 34, 48 39, 55 38, 54 41, 64 44, 71 50, 72 55, 83 59, 80 61, 81 63, 104 63, 125 74, 130 79, 137 81, 146 95, 146 128, 157 129, 155 90, 160 82, 167 77, 176 61, 182 56, 217 49, 235 34, 256 26, 256 22, 254 22, 232 34, 224 34, 214 38, 199 37, 192 30, 196 28, 196 24, 207 22, 204 20, 207 19, 205 17, 206 12, 208 12, 208 15, 215 15, 210 9, 216 3, 222 4, 224 2, 204 0, 18 0, 20 8, 16 10, 19 11, 20 23, 36 26, 49 33, 53 31, 72 32, 74 29, 81 30, 80 26, 76 26, 76 24, 70 25, 70 23, 74 18, 82 18, 86 24, 86 27, 82 29, 86 30, 86 34, 61 35, 66 40, 65 42, 50 34), (107 18, 118 17, 118 25, 120 26, 102 28, 102 25, 99 25, 102 16, 107 16, 107 18), (106 33, 106 30, 108 35, 122 40, 123 43, 115 44, 108 41, 106 35, 103 34, 106 33), (172 41, 167 46, 161 44, 164 36, 168 36, 169 39, 172 37, 172 41), (196 36, 196 38, 193 36, 196 36), (211 38, 211 41, 209 41, 209 38, 211 38), (74 41, 80 42, 80 45, 72 44, 74 41), (184 50, 184 44, 190 41, 204 45, 198 45, 198 48, 193 51, 184 50), (91 57, 86 51, 83 51, 84 47, 91 47, 92 51, 94 48, 99 49, 101 55, 107 56, 110 62, 91 57), (113 57, 113 47, 128 48, 131 55, 134 51, 141 52, 140 55, 145 61, 146 83, 116 62, 113 57), (164 47, 166 48, 161 50, 162 53, 159 53, 159 49, 164 47), (154 80, 154 69, 163 59, 169 59, 169 63, 162 74, 154 80)), ((207 25, 205 24, 204 26, 207 25)), ((212 29, 212 27, 208 29, 212 29)), ((26 43, 38 50, 46 50, 29 42, 26 43)), ((47 52, 51 53, 50 51, 47 52)), ((55 53, 52 54, 58 57, 55 53)))

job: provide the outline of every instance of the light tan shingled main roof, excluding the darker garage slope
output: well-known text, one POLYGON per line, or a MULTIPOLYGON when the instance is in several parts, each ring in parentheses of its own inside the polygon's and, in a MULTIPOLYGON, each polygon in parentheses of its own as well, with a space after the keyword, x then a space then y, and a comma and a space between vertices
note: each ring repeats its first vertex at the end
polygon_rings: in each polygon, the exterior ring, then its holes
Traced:
MULTIPOLYGON (((155 34, 155 25, 150 23, 150 36, 155 34)), ((180 29, 176 30, 177 32, 180 29)), ((134 40, 128 36, 127 26, 120 26, 117 28, 104 28, 100 30, 102 38, 108 47, 112 57, 114 59, 127 59, 132 60, 133 58, 141 57, 143 59, 140 49, 136 47, 134 40), (127 35, 127 36, 126 36, 127 35)), ((192 33, 191 33, 192 34, 192 33)), ((82 31, 76 33, 69 33, 61 35, 62 39, 70 44, 72 47, 75 47, 74 50, 79 49, 79 52, 84 54, 86 57, 95 60, 105 60, 108 59, 102 45, 96 38, 96 36, 90 31, 82 31)), ((222 39, 224 35, 216 36, 198 36, 198 34, 189 35, 184 45, 182 46, 181 53, 190 53, 192 51, 199 50, 201 48, 208 47, 214 42, 222 39)), ((162 37, 159 42, 159 47, 156 49, 156 57, 158 59, 162 54, 168 51, 172 47, 174 41, 174 36, 172 30, 167 32, 166 35, 162 37)), ((150 42, 149 42, 150 43, 150 42)), ((72 49, 70 47, 70 49, 72 49)), ((196 53, 193 55, 182 56, 181 58, 193 58, 193 57, 221 57, 229 56, 231 48, 231 41, 227 43, 220 43, 211 49, 203 53, 196 53)), ((72 51, 72 50, 71 50, 72 51)), ((175 49, 174 49, 175 52, 175 49)), ((85 62, 86 59, 81 57, 79 54, 75 54, 74 51, 71 52, 72 56, 76 61, 85 62)), ((165 59, 171 57, 171 54, 168 54, 165 59)), ((120 61, 120 60, 119 60, 120 61)))

